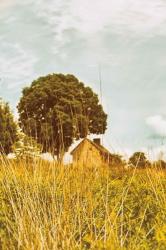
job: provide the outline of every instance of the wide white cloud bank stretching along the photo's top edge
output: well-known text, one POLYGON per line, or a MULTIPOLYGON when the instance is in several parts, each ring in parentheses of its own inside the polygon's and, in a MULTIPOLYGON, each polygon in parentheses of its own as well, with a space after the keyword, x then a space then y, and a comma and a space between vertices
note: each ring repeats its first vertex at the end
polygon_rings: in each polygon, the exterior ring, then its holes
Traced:
POLYGON ((59 36, 71 27, 90 35, 104 29, 125 34, 127 31, 130 36, 166 31, 163 0, 38 0, 35 6, 37 15, 46 18, 56 30, 58 24, 59 36))

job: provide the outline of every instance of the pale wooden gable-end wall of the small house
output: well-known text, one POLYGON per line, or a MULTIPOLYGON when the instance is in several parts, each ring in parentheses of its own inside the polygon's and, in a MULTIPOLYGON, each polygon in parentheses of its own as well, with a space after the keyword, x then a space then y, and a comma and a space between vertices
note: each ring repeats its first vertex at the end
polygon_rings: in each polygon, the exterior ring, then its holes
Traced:
POLYGON ((101 165, 103 161, 96 147, 85 140, 73 153, 73 163, 96 167, 101 165))

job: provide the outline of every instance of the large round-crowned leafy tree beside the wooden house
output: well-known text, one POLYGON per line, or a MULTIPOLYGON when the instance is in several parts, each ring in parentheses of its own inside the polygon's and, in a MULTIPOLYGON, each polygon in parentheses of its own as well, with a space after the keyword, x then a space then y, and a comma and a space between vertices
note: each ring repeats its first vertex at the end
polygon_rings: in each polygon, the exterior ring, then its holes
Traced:
POLYGON ((40 77, 22 94, 18 111, 23 131, 58 159, 74 139, 106 130, 107 115, 98 96, 73 75, 40 77))

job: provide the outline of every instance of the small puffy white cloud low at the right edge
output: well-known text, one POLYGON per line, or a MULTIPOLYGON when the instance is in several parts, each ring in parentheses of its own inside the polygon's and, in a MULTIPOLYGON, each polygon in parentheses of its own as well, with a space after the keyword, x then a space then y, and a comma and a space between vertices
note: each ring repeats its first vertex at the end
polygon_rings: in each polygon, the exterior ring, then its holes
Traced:
POLYGON ((153 129, 156 135, 166 136, 166 119, 161 115, 150 116, 146 119, 146 124, 153 129))

